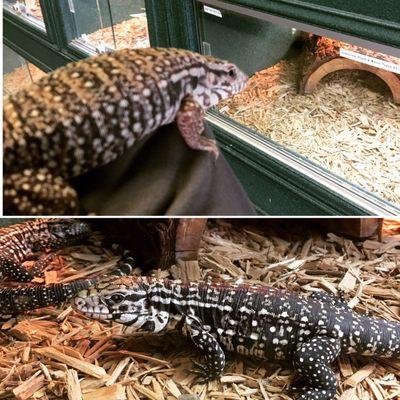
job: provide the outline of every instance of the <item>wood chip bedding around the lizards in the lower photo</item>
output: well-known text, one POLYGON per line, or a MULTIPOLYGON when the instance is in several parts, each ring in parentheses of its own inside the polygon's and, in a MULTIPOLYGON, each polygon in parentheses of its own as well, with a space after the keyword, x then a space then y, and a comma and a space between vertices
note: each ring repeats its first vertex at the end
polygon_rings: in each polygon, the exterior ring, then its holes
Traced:
MULTIPOLYGON (((209 221, 200 249, 203 279, 261 282, 300 293, 345 291, 357 312, 400 321, 400 221, 393 236, 352 241, 305 222, 209 221), (297 229, 297 228, 298 229, 297 229), (294 230, 296 229, 296 230, 294 230)), ((96 244, 59 252, 47 280, 103 275, 118 256, 96 244)), ((156 267, 156 266, 155 266, 156 267)), ((140 273, 140 270, 136 272, 140 273)), ((179 277, 178 266, 152 271, 179 277)), ((2 283, 4 284, 4 283, 2 283)), ((90 320, 68 305, 6 321, 0 330, 0 399, 291 400, 293 369, 228 355, 220 381, 195 384, 201 354, 173 333, 146 335, 90 320)), ((334 364, 340 400, 400 398, 400 361, 344 355, 334 364)))

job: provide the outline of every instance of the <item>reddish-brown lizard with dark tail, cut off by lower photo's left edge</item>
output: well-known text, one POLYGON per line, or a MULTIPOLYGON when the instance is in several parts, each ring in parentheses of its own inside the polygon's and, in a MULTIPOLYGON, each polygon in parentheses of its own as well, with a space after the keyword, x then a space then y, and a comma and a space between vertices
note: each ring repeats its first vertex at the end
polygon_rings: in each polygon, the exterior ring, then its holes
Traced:
MULTIPOLYGON (((29 282, 43 276, 54 253, 27 269, 22 264, 33 252, 58 249, 79 243, 89 235, 89 226, 72 219, 36 219, 0 229, 0 275, 18 282, 29 282)), ((62 284, 0 287, 0 315, 57 305, 97 280, 85 279, 62 284)))

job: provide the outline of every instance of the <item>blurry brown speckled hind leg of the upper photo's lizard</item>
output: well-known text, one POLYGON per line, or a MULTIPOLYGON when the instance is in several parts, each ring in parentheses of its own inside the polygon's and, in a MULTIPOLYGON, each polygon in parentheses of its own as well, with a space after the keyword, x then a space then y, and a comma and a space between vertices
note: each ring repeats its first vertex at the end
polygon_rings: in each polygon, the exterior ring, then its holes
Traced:
POLYGON ((73 215, 78 195, 61 177, 45 168, 26 169, 4 179, 3 201, 8 215, 73 215))

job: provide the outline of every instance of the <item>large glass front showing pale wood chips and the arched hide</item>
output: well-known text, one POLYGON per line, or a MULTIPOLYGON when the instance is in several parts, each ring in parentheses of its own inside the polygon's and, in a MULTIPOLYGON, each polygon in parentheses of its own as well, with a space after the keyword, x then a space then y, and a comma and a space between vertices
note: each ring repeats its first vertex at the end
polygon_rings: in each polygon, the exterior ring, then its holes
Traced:
POLYGON ((203 52, 251 76, 221 115, 400 205, 399 58, 290 21, 200 2, 198 13, 203 52))

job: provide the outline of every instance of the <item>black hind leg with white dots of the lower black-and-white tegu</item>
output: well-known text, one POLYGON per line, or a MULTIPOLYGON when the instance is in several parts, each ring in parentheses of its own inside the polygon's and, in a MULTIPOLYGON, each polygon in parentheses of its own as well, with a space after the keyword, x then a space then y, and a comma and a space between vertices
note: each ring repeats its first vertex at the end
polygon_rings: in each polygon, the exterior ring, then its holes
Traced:
POLYGON ((298 400, 334 400, 336 376, 331 363, 340 353, 336 338, 315 336, 302 343, 293 355, 297 371, 306 379, 307 387, 298 400))

